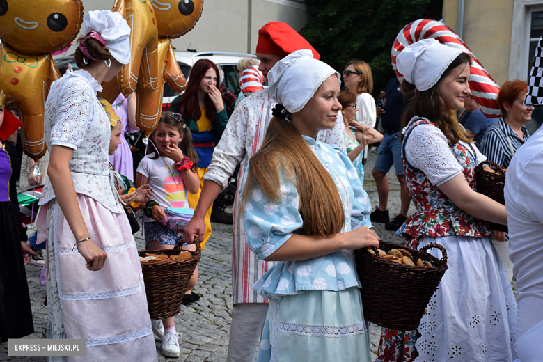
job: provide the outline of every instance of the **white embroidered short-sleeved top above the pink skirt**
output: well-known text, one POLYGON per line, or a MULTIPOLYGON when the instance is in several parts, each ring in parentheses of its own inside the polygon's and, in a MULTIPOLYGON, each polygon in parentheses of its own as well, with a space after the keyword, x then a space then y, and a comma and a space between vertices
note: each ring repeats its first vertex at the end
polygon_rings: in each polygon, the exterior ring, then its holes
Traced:
MULTIPOLYGON (((96 97, 102 86, 85 70, 70 71, 53 82, 45 102, 45 143, 72 148, 70 171, 78 194, 89 196, 111 212, 123 212, 109 180, 109 118, 96 97)), ((40 205, 55 198, 51 182, 40 205)))

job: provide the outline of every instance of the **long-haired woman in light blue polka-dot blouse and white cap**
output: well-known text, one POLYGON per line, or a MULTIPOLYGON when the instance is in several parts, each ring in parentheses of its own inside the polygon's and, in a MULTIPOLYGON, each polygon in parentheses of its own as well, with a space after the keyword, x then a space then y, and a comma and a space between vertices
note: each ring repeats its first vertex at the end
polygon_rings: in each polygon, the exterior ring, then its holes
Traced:
POLYGON ((268 82, 278 104, 240 205, 251 250, 279 261, 253 286, 270 300, 258 361, 370 361, 352 250, 379 238, 349 157, 315 141, 336 124, 339 74, 301 50, 268 82))

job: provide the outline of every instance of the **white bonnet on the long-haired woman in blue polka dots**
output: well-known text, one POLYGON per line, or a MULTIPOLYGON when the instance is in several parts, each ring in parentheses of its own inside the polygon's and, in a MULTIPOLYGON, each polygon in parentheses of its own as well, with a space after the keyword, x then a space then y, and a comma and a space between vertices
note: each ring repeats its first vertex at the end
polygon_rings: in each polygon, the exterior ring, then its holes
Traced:
POLYGON ((300 111, 332 74, 340 74, 330 65, 313 59, 308 49, 297 50, 278 61, 268 72, 268 92, 289 113, 300 111))

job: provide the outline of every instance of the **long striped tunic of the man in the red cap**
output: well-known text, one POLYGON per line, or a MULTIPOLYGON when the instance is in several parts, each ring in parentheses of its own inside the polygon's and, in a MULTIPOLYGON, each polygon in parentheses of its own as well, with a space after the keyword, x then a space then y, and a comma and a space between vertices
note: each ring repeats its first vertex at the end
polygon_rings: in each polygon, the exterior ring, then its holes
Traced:
MULTIPOLYGON (((244 98, 239 102, 230 117, 221 141, 213 153, 213 159, 207 168, 203 179, 211 180, 226 187, 228 178, 233 175, 237 164, 241 163, 238 176, 237 192, 234 203, 236 210, 239 193, 243 189, 244 175, 249 159, 258 151, 266 136, 269 121, 272 120, 272 109, 276 102, 272 100, 267 90, 260 91, 244 98)), ((343 118, 338 113, 336 126, 333 129, 320 132, 317 141, 338 145, 345 150, 345 131, 343 118)), ((252 288, 258 278, 265 274, 274 262, 258 260, 245 242, 243 220, 234 214, 234 239, 232 249, 232 289, 233 304, 238 303, 267 303, 252 288)))

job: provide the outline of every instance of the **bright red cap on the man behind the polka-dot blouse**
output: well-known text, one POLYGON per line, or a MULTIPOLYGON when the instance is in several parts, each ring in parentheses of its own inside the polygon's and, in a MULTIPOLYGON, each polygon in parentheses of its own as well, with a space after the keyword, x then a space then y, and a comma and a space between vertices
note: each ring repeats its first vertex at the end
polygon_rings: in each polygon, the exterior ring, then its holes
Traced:
POLYGON ((315 48, 286 23, 269 22, 258 31, 257 53, 288 56, 301 49, 309 49, 313 52, 313 58, 320 59, 315 48))

